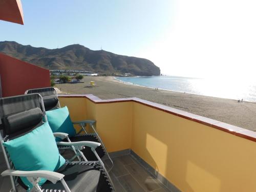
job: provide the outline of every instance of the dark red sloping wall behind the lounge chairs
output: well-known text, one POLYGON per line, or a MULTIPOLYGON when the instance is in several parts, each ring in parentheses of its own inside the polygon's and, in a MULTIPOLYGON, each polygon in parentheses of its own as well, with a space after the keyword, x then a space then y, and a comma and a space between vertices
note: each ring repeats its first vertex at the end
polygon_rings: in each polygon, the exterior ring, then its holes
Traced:
POLYGON ((50 87, 50 72, 0 53, 2 97, 22 95, 28 89, 50 87))

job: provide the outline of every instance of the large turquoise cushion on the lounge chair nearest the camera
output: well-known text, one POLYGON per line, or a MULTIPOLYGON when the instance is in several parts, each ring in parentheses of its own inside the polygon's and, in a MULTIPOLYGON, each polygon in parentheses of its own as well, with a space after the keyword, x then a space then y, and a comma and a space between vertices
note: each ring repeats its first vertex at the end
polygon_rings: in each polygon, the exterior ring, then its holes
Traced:
MULTIPOLYGON (((59 154, 52 130, 48 122, 21 137, 3 143, 16 170, 51 170, 55 171, 65 163, 59 154)), ((21 177, 30 189, 32 184, 26 177, 21 177)), ((39 185, 46 182, 41 178, 39 185)))

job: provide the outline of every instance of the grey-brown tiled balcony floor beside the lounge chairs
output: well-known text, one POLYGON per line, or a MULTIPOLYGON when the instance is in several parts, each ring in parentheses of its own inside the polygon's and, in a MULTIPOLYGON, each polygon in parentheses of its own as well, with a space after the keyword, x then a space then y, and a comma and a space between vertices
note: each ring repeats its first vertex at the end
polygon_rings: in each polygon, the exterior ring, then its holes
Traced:
MULTIPOLYGON (((167 192, 162 183, 150 175, 132 155, 124 155, 113 158, 114 167, 110 172, 117 192, 140 192, 154 191, 167 192)), ((104 160, 104 164, 108 169, 110 160, 104 160)), ((0 154, 0 172, 6 169, 3 154, 0 154)), ((0 176, 0 191, 8 192, 11 188, 9 177, 0 176)), ((25 191, 18 187, 18 191, 25 191)), ((72 191, 73 192, 73 191, 72 191)), ((75 192, 75 191, 74 191, 75 192)))

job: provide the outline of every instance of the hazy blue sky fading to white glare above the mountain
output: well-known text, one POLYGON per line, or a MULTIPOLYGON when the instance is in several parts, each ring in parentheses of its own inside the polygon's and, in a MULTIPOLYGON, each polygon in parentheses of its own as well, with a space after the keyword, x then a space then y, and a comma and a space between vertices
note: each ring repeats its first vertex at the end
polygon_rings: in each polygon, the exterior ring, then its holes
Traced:
POLYGON ((256 2, 237 0, 22 0, 25 25, 0 21, 0 41, 34 47, 80 44, 143 57, 161 73, 255 73, 256 2))

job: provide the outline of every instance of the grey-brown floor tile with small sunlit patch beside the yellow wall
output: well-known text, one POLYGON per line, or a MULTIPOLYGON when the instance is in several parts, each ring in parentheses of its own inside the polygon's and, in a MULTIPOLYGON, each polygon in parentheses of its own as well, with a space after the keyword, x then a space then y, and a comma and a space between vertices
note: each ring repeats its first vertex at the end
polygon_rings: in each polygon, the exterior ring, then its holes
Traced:
POLYGON ((128 172, 135 178, 135 180, 146 190, 153 191, 160 188, 160 182, 147 173, 142 166, 137 163, 125 165, 128 172))

